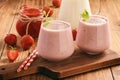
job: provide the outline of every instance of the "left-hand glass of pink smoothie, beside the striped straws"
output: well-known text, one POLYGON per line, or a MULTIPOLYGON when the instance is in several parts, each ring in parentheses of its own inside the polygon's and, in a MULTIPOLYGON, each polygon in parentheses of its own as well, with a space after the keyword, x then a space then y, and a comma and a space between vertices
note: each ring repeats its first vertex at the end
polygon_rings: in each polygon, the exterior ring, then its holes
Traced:
POLYGON ((66 59, 74 52, 71 25, 52 20, 47 26, 41 25, 37 50, 39 55, 50 61, 66 59))

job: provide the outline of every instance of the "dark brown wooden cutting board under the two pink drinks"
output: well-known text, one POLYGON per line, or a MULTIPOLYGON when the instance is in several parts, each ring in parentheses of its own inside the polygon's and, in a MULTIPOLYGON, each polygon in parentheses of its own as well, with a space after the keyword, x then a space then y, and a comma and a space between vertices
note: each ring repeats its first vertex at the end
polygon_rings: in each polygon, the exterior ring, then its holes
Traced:
POLYGON ((6 80, 39 72, 53 79, 58 79, 120 64, 119 61, 120 55, 111 50, 106 50, 96 56, 76 50, 70 58, 60 62, 50 62, 38 57, 28 70, 19 73, 16 70, 21 63, 0 66, 0 75, 6 80))

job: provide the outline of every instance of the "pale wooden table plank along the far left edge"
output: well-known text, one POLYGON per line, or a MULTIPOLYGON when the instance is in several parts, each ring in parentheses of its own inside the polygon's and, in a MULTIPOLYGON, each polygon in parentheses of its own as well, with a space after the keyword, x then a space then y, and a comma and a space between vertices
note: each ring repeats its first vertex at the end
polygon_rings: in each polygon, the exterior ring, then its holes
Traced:
POLYGON ((16 10, 17 6, 17 1, 13 0, 14 3, 11 1, 4 0, 0 2, 0 57, 3 53, 4 49, 4 37, 6 36, 7 33, 9 33, 11 29, 11 25, 14 20, 14 16, 12 15, 14 10, 16 10), (8 14, 9 13, 9 14, 8 14))

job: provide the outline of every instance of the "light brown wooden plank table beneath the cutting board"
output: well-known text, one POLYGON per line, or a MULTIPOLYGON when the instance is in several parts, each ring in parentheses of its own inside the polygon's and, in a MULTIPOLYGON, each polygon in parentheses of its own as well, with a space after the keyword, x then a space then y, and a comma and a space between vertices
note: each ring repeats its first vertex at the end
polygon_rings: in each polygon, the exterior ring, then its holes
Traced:
MULTIPOLYGON (((45 6, 51 5, 52 0, 46 0, 45 6)), ((9 64, 6 56, 6 45, 4 37, 8 33, 14 33, 20 38, 16 32, 15 25, 18 19, 18 11, 23 4, 32 7, 41 7, 40 0, 0 0, 0 65, 9 64)), ((92 12, 95 14, 99 8, 99 0, 90 0, 92 12)), ((120 54, 120 0, 101 0, 100 15, 108 17, 111 27, 112 45, 111 49, 120 54)), ((52 17, 57 17, 59 8, 55 9, 52 17)), ((19 45, 19 41, 18 41, 19 45)), ((19 48, 19 57, 14 63, 24 60, 28 55, 28 51, 19 48)), ((33 74, 18 78, 18 80, 51 80, 50 78, 33 74)), ((65 78, 65 80, 120 80, 120 66, 112 66, 99 69, 84 74, 65 78)))

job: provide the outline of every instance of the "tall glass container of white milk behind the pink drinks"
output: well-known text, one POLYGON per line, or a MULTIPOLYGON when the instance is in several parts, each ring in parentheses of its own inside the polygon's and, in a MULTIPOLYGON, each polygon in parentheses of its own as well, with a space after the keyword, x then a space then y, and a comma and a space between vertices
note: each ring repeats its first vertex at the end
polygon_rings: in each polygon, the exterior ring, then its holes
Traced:
POLYGON ((71 23, 72 28, 77 28, 80 14, 85 9, 91 14, 89 0, 62 0, 58 19, 71 23))

